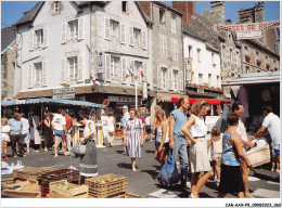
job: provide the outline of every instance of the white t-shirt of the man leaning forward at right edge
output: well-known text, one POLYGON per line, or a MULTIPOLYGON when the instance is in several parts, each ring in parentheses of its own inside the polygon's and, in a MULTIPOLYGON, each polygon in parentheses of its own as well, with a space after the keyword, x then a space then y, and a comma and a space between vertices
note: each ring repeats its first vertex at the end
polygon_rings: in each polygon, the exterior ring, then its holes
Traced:
POLYGON ((262 126, 268 129, 269 134, 272 140, 272 147, 280 150, 280 139, 281 139, 281 127, 280 118, 273 113, 269 113, 262 122, 262 126))

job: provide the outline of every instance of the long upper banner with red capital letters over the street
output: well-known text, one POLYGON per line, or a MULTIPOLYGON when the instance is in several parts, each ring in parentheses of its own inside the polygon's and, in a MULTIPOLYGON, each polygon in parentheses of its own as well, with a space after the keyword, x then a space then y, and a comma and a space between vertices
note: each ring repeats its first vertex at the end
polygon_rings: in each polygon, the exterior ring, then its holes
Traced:
POLYGON ((228 31, 257 31, 271 27, 280 26, 280 21, 271 21, 264 23, 247 23, 247 24, 238 24, 238 25, 215 25, 215 29, 218 31, 228 30, 228 31))

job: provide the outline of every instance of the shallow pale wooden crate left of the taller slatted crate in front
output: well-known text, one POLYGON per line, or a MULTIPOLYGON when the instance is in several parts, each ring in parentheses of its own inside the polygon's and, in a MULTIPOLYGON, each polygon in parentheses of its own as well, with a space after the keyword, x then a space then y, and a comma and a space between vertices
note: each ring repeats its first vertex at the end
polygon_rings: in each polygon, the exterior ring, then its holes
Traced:
POLYGON ((63 196, 63 198, 74 198, 81 194, 88 194, 88 185, 76 185, 68 183, 66 180, 51 182, 49 184, 50 192, 57 193, 63 196), (68 187, 69 190, 64 190, 60 187, 60 184, 68 187))

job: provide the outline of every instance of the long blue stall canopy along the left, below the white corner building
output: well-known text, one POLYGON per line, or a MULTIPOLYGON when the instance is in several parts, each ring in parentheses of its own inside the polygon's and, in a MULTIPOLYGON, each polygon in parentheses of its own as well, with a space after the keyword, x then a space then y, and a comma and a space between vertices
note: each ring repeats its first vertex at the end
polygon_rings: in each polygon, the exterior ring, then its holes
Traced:
POLYGON ((1 106, 8 107, 8 106, 13 106, 13 105, 29 105, 29 104, 39 104, 39 103, 106 108, 105 105, 101 105, 101 104, 97 104, 97 103, 90 103, 90 102, 86 102, 86 101, 61 100, 61 99, 27 99, 27 100, 15 100, 15 101, 2 101, 1 106))

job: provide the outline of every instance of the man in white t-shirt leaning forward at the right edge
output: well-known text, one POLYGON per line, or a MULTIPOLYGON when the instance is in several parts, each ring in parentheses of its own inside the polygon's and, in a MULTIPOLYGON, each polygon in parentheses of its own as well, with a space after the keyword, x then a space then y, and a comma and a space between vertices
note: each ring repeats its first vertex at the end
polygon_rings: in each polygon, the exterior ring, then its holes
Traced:
POLYGON ((255 134, 255 138, 260 138, 266 134, 270 134, 271 146, 272 146, 272 168, 274 171, 277 164, 277 172, 280 172, 280 140, 281 140, 281 122, 280 118, 272 113, 270 105, 262 106, 262 114, 265 119, 260 129, 255 134), (268 131, 267 131, 268 130, 268 131))

